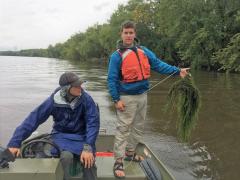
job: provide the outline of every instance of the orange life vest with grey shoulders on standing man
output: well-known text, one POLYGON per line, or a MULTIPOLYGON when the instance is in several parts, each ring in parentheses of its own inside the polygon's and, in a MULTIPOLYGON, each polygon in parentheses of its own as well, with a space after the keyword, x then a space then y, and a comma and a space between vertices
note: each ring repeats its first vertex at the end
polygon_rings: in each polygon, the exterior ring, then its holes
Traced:
POLYGON ((144 51, 137 48, 136 53, 127 49, 123 53, 118 50, 122 57, 122 81, 126 83, 141 81, 150 77, 150 64, 144 51))

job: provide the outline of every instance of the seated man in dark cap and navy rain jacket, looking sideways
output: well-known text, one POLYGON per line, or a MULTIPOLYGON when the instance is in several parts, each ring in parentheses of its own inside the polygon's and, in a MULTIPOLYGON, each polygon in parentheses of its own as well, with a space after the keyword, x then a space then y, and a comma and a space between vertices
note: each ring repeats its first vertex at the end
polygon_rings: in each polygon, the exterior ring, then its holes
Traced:
POLYGON ((61 75, 58 87, 18 126, 8 143, 10 152, 19 156, 22 141, 28 138, 50 115, 53 117, 52 140, 61 149, 64 179, 75 157, 83 165, 84 179, 97 178, 95 142, 99 132, 99 112, 92 97, 81 87, 82 81, 73 72, 61 75))

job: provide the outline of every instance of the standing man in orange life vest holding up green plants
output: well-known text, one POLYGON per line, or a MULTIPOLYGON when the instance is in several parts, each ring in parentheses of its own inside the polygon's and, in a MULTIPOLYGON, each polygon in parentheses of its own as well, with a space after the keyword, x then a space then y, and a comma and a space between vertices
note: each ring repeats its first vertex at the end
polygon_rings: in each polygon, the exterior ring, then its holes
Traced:
POLYGON ((189 68, 168 65, 146 47, 139 46, 134 22, 123 22, 120 33, 118 49, 110 57, 108 88, 117 110, 113 173, 115 177, 124 178, 123 159, 142 160, 135 148, 143 135, 147 113, 147 94, 144 92, 149 89, 150 70, 184 78, 189 68))

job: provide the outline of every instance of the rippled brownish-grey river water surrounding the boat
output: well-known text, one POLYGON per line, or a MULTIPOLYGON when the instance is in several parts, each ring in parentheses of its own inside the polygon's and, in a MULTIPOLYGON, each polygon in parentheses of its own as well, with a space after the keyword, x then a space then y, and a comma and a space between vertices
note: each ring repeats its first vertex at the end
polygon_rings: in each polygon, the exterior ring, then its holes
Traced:
MULTIPOLYGON (((114 134, 116 115, 110 100, 106 63, 0 56, 0 145, 6 146, 14 129, 58 86, 65 71, 87 82, 83 87, 100 106, 101 127, 114 134)), ((148 93, 144 139, 177 180, 240 178, 240 76, 191 72, 201 92, 202 106, 189 143, 176 135, 176 114, 164 113, 172 77, 148 93)), ((153 73, 154 85, 164 76, 153 73)), ((49 119, 38 133, 49 132, 49 119)))

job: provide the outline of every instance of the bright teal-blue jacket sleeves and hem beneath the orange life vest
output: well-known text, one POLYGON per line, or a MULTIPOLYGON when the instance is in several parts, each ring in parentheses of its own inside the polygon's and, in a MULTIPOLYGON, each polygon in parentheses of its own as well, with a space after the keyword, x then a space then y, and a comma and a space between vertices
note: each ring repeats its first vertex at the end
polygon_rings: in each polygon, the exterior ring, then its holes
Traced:
MULTIPOLYGON (((156 55, 146 47, 141 46, 141 49, 148 57, 149 64, 152 70, 159 72, 161 74, 172 74, 174 72, 176 72, 176 74, 179 74, 180 72, 179 68, 168 65, 167 63, 158 59, 156 55)), ((113 101, 120 100, 120 94, 137 95, 142 94, 149 89, 148 80, 142 80, 133 83, 121 82, 122 58, 118 51, 115 51, 111 55, 109 61, 110 62, 108 67, 108 89, 113 101)))

